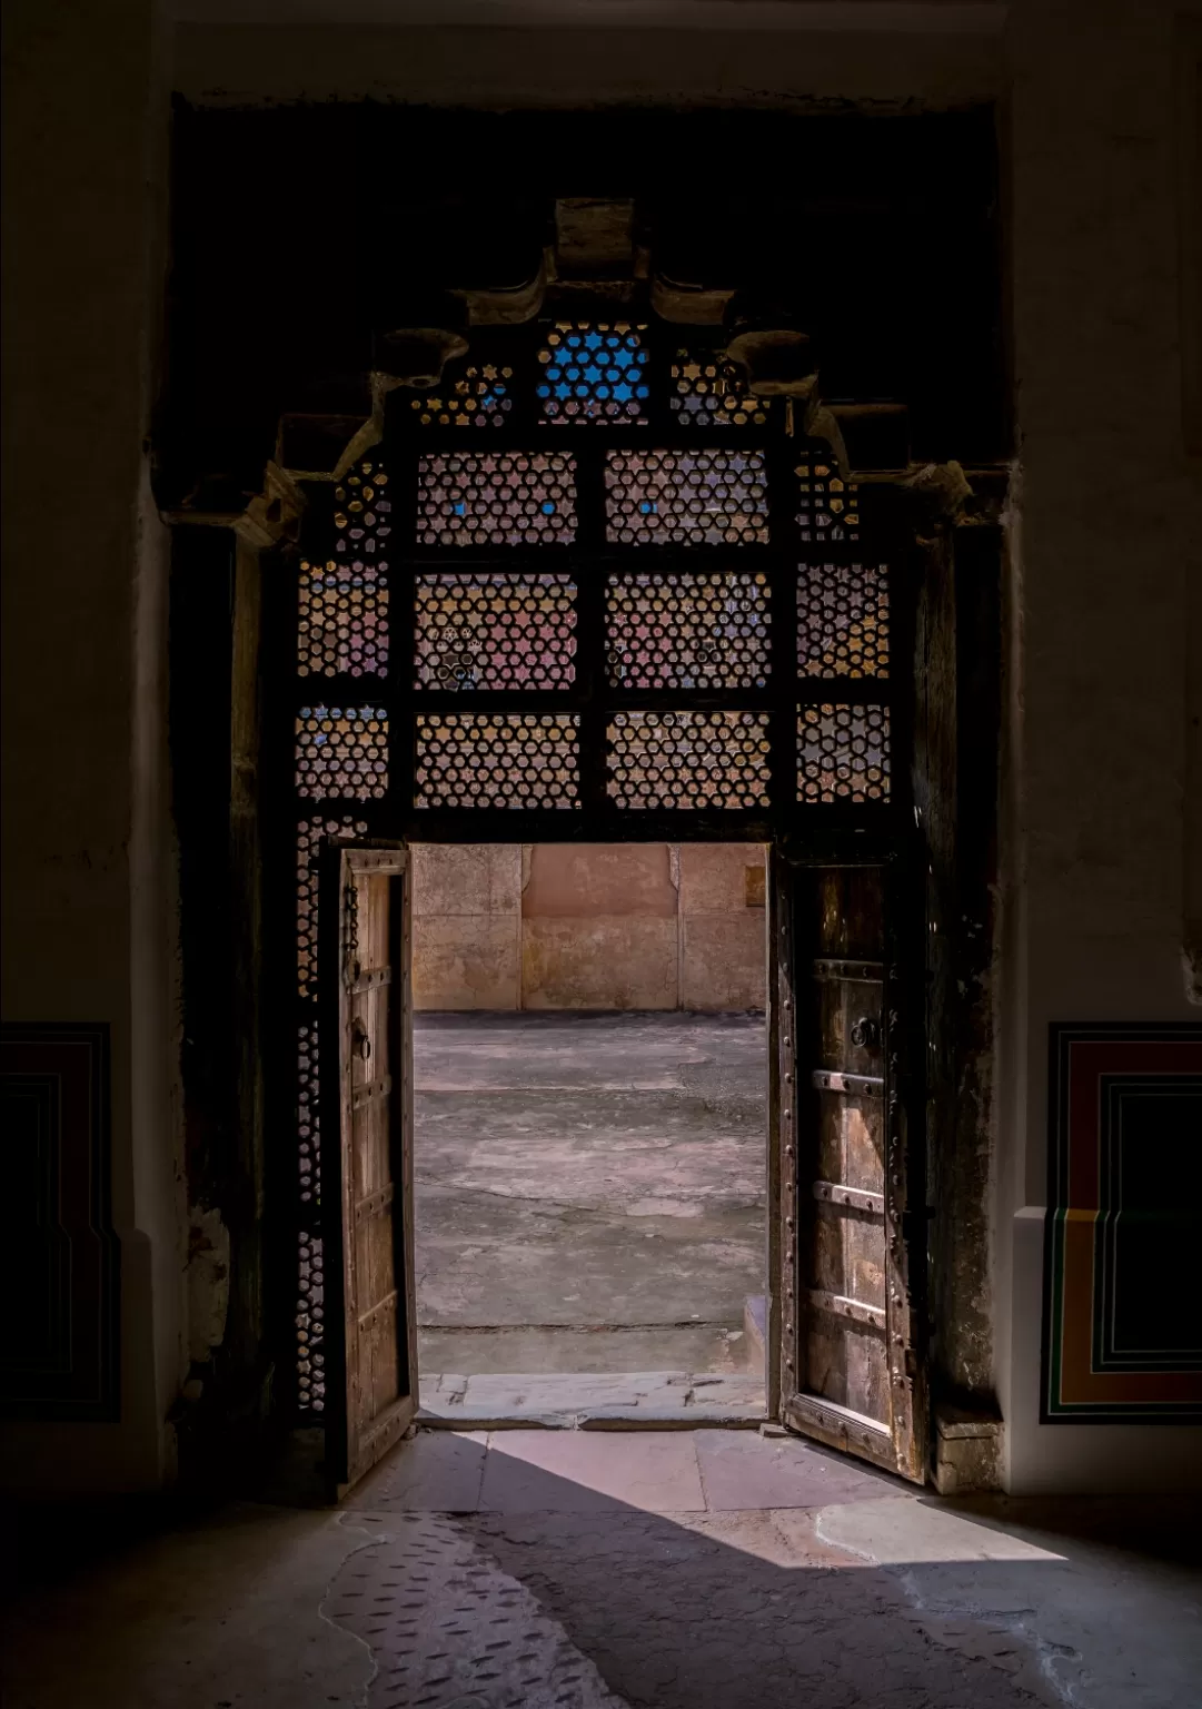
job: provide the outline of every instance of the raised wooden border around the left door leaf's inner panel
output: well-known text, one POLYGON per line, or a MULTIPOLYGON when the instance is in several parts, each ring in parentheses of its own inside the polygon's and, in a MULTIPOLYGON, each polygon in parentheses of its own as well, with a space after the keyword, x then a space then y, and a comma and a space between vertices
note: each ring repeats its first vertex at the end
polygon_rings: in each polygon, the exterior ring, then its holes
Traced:
MULTIPOLYGON (((323 1077, 323 1167, 326 1171, 323 1195, 323 1236, 326 1242, 326 1285, 336 1278, 338 1306, 326 1301, 326 1485, 333 1501, 341 1501, 347 1490, 393 1448, 411 1425, 418 1408, 418 1340, 417 1340, 417 1283, 413 1271, 413 897, 411 860, 408 846, 381 839, 331 839, 323 849, 321 870, 321 943, 319 943, 319 1036, 338 1041, 338 1061, 323 1077), (396 1400, 388 1413, 376 1422, 369 1444, 359 1442, 347 1410, 347 1352, 348 1313, 353 1309, 353 1239, 347 1239, 350 1225, 348 1189, 343 1169, 343 1133, 350 1123, 348 1054, 343 1039, 343 995, 347 984, 347 906, 345 890, 350 873, 388 873, 401 880, 401 907, 389 914, 389 957, 400 972, 394 981, 400 1003, 396 1008, 394 1051, 401 1084, 394 1097, 393 1160, 400 1181, 400 1222, 396 1230, 398 1283, 405 1285, 405 1340, 408 1395, 396 1400), (405 1131, 408 1128, 408 1145, 405 1131)), ((330 1046, 326 1046, 328 1049, 330 1046)))

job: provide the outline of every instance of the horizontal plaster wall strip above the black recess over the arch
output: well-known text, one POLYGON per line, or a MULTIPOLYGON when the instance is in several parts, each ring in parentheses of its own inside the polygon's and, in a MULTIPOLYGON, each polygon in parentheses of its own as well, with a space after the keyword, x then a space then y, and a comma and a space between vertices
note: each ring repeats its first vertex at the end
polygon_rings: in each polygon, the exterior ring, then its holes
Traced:
MULTIPOLYGON (((277 5, 287 15, 289 0, 277 5)), ((352 22, 335 0, 328 7, 323 17, 321 5, 311 5, 306 19, 282 29, 270 22, 270 9, 246 21, 230 15, 241 10, 230 0, 222 19, 217 3, 184 0, 176 89, 190 101, 230 106, 371 96, 560 108, 843 99, 954 108, 1004 89, 1004 0, 886 0, 871 12, 861 0, 640 0, 620 17, 608 0, 575 0, 557 7, 553 22, 538 0, 487 7, 415 0, 405 7, 411 27, 352 22)))

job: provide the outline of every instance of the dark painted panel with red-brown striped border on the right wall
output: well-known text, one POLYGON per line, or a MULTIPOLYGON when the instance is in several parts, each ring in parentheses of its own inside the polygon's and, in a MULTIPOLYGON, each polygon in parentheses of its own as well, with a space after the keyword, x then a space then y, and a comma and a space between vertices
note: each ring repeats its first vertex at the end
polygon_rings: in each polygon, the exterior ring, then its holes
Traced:
POLYGON ((1185 1179, 1202 1167, 1202 1025, 1055 1024, 1048 1042, 1040 1418, 1202 1422, 1202 1335, 1146 1261, 1171 1275, 1202 1246, 1185 1179), (1149 1125, 1182 1147, 1176 1169, 1149 1160, 1149 1125))

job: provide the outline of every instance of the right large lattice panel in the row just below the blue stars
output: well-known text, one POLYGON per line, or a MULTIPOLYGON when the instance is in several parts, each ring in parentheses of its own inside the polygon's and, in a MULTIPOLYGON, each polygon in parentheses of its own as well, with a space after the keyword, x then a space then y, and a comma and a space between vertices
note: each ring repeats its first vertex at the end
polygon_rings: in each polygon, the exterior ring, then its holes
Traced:
POLYGON ((611 451, 606 537, 618 545, 750 545, 768 538, 761 451, 611 451))

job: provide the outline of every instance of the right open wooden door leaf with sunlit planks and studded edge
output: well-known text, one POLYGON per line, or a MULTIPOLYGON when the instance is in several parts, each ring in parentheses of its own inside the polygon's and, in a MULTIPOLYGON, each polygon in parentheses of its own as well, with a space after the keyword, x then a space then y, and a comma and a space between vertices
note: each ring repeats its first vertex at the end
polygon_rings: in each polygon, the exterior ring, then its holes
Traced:
POLYGON ((922 1482, 893 878, 773 849, 772 880, 780 1417, 922 1482))

